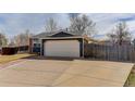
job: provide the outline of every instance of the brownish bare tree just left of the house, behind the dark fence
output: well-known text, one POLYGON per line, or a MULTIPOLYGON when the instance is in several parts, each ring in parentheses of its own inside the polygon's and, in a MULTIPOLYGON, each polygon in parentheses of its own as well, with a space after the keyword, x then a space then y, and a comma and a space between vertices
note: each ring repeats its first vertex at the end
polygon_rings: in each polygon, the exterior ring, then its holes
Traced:
POLYGON ((32 37, 33 34, 27 29, 22 34, 19 34, 14 36, 12 39, 12 43, 15 46, 27 46, 29 43, 29 38, 32 37))

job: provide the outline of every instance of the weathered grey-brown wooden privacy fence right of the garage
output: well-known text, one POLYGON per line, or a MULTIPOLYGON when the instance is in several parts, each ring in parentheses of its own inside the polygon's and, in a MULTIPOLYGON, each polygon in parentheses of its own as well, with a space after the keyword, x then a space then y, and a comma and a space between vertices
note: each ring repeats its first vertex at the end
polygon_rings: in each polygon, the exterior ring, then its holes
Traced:
POLYGON ((84 46, 85 56, 107 61, 125 61, 135 62, 135 47, 134 46, 107 46, 88 43, 84 46))

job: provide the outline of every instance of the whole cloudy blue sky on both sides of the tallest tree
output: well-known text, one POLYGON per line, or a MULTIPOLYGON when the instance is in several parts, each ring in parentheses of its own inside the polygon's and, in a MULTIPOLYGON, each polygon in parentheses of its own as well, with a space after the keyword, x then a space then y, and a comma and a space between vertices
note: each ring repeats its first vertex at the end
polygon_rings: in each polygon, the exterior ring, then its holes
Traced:
MULTIPOLYGON (((106 34, 120 21, 126 21, 132 35, 135 37, 135 14, 134 13, 87 13, 89 18, 96 22, 96 38, 106 38, 106 34)), ((17 35, 26 29, 33 34, 45 30, 46 20, 56 18, 61 28, 70 25, 66 13, 0 13, 0 31, 8 37, 17 35)))

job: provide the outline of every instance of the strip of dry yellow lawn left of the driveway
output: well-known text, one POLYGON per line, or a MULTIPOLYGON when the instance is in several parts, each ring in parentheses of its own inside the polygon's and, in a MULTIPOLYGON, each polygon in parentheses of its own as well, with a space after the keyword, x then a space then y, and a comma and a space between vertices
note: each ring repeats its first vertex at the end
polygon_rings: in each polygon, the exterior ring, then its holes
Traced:
POLYGON ((0 55, 0 64, 3 63, 8 63, 11 61, 15 61, 22 58, 27 58, 27 56, 32 56, 34 54, 29 54, 29 53, 20 53, 20 54, 13 54, 13 55, 0 55))

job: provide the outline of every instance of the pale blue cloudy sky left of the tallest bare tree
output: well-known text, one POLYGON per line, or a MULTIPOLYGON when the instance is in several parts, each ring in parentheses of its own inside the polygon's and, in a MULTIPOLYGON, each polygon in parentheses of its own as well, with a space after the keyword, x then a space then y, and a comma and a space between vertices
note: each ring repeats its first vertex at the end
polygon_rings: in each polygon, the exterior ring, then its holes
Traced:
POLYGON ((4 21, 4 23, 0 23, 0 30, 4 31, 9 37, 17 35, 25 29, 38 34, 44 31, 46 20, 49 17, 54 17, 61 26, 61 23, 63 23, 63 26, 68 25, 66 14, 0 14, 0 22, 4 21))

